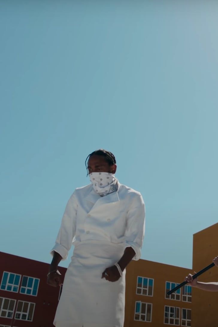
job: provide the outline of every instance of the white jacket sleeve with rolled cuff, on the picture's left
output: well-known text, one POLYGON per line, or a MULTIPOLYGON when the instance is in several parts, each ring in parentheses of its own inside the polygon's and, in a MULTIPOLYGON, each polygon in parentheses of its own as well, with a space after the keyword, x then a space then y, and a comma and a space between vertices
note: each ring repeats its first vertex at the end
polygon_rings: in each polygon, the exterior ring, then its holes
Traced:
POLYGON ((75 237, 76 213, 77 200, 74 192, 67 202, 59 233, 55 241, 55 246, 50 251, 51 255, 54 254, 54 251, 58 252, 62 257, 62 260, 67 259, 68 251, 71 249, 72 242, 75 237))

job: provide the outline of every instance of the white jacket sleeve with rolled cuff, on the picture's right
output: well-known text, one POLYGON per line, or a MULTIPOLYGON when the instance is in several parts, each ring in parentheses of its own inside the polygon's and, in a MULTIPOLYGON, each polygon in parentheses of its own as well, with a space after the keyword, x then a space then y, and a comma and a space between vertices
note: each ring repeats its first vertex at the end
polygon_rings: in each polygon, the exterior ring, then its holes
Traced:
POLYGON ((139 260, 145 231, 145 205, 141 194, 136 194, 126 217, 126 246, 131 247, 136 255, 133 260, 139 260))

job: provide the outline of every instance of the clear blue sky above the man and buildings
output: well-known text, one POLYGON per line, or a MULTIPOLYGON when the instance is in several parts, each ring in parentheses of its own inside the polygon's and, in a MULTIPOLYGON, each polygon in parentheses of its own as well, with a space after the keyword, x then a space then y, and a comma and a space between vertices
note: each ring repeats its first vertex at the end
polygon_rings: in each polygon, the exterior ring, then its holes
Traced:
POLYGON ((0 2, 2 251, 50 262, 66 202, 89 183, 85 158, 103 147, 143 195, 142 258, 192 267, 193 233, 218 220, 217 12, 0 2))

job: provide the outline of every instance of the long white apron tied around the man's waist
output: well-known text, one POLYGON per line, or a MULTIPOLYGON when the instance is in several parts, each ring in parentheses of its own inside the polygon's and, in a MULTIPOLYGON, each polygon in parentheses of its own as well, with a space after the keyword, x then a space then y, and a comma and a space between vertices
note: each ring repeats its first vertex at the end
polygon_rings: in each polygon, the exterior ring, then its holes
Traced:
POLYGON ((124 254, 125 244, 87 240, 76 244, 57 307, 56 327, 123 327, 125 274, 101 278, 124 254))

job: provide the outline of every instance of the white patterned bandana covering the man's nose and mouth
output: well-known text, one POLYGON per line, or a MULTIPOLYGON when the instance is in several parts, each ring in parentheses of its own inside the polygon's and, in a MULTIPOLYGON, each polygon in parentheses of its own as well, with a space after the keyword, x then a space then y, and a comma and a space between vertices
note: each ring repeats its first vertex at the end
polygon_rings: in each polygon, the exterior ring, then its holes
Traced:
POLYGON ((91 173, 89 174, 93 189, 101 197, 118 190, 117 180, 111 173, 91 173))

